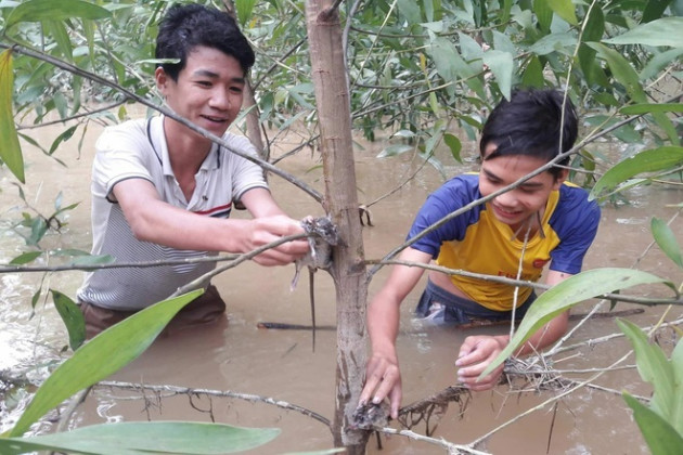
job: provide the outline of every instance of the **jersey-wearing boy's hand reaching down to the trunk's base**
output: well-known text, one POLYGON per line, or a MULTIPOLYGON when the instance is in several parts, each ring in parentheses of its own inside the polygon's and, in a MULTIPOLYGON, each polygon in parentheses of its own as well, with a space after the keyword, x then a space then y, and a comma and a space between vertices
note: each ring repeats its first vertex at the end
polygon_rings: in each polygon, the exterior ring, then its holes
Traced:
POLYGON ((365 367, 365 387, 359 404, 366 404, 370 400, 379 404, 389 396, 390 415, 398 418, 401 405, 401 372, 396 355, 373 353, 365 367))

